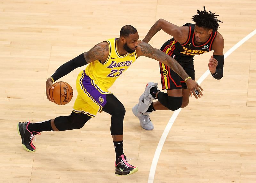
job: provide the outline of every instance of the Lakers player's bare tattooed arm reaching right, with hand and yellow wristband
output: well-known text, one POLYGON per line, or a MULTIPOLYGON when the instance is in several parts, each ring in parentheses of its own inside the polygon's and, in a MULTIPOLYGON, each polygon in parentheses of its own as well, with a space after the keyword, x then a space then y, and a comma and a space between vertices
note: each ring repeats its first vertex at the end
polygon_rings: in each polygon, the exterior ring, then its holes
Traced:
MULTIPOLYGON (((174 72, 176 72, 183 80, 187 79, 189 76, 183 69, 183 67, 172 57, 165 54, 161 50, 158 50, 156 48, 153 48, 151 45, 145 42, 138 41, 139 45, 136 49, 137 56, 145 56, 149 58, 153 58, 168 67, 170 67, 174 72)), ((201 90, 203 91, 203 88, 201 88, 196 81, 192 80, 191 78, 186 80, 186 84, 188 87, 188 90, 190 92, 190 96, 192 94, 197 98, 197 95, 195 93, 195 89, 198 90, 199 94, 198 97, 200 98, 200 95, 203 95, 201 90), (200 90, 201 89, 201 90, 200 90)))

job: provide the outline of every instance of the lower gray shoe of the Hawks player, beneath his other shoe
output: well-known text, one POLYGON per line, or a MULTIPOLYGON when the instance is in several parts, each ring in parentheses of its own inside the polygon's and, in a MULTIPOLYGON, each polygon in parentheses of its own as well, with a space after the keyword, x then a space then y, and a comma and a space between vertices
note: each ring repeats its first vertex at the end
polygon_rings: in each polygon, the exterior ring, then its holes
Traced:
POLYGON ((140 126, 142 128, 144 128, 145 130, 153 130, 154 125, 151 122, 149 115, 151 112, 144 112, 143 114, 141 112, 138 111, 138 105, 136 104, 133 108, 132 108, 132 112, 133 114, 139 118, 140 120, 140 126))

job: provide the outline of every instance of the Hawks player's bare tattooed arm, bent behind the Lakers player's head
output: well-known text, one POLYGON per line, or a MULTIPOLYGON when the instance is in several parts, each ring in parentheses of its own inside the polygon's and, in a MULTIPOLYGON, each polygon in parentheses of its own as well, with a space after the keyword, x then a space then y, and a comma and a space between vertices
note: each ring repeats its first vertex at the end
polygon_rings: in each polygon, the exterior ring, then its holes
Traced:
POLYGON ((187 41, 188 27, 178 27, 164 19, 157 20, 142 41, 148 43, 150 39, 161 29, 167 34, 172 35, 174 39, 180 43, 184 43, 187 41))

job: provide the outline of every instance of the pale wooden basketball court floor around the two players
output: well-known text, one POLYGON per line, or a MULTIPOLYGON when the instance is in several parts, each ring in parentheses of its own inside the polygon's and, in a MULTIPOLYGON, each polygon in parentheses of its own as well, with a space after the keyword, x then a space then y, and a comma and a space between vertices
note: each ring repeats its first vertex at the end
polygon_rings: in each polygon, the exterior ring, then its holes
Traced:
MULTIPOLYGON (((225 59, 224 77, 207 76, 204 96, 190 98, 174 121, 157 161, 151 163, 172 111, 155 111, 154 130, 141 129, 132 107, 149 81, 160 82, 158 62, 140 57, 110 88, 124 104, 124 153, 135 174, 115 176, 110 116, 104 112, 82 129, 43 132, 29 153, 16 125, 69 115, 49 102, 45 81, 63 63, 95 44, 118 37, 121 27, 137 28, 140 39, 157 19, 178 26, 202 10, 219 14, 224 54, 256 29, 255 0, 0 0, 0 182, 3 183, 255 183, 256 36, 225 59), (152 176, 152 174, 151 174, 152 176)), ((158 32, 149 42, 160 48, 171 36, 158 32)), ((212 52, 195 57, 196 80, 212 52)), ((77 68, 60 80, 75 89, 77 68)), ((60 81, 59 80, 59 81, 60 81)), ((161 85, 161 84, 159 84, 161 85)), ((160 87, 161 88, 161 87, 160 87)))

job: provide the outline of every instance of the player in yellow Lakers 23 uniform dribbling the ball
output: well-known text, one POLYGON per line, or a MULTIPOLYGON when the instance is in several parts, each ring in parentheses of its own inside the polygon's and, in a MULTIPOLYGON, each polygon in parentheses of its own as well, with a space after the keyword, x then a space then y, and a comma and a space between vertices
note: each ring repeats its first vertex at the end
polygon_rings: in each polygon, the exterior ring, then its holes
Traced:
MULTIPOLYGON (((34 135, 40 132, 79 129, 89 119, 95 117, 98 112, 104 111, 112 116, 110 132, 116 151, 116 175, 129 175, 137 172, 138 168, 127 162, 123 152, 124 105, 108 91, 108 88, 138 57, 146 56, 168 65, 183 80, 187 79, 188 88, 194 92, 194 95, 196 95, 194 89, 199 91, 202 89, 188 76, 175 59, 138 39, 137 30, 130 25, 126 25, 121 29, 119 38, 100 42, 91 50, 61 65, 46 81, 46 94, 50 101, 52 99, 49 90, 50 88, 53 89, 53 82, 75 68, 88 64, 78 74, 76 80, 78 95, 73 111, 69 116, 59 116, 48 121, 38 123, 19 122, 17 128, 24 149, 29 152, 36 150, 32 141, 34 135)), ((198 95, 202 95, 201 91, 198 95)))

